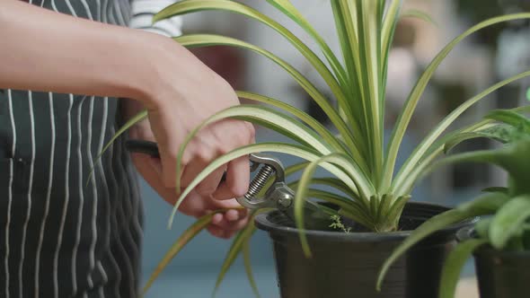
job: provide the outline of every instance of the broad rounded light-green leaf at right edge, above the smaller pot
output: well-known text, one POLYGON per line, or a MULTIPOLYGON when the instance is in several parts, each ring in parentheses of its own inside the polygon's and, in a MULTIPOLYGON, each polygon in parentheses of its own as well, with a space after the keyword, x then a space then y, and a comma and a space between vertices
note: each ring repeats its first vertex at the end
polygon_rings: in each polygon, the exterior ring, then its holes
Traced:
POLYGON ((522 230, 530 217, 530 195, 514 197, 499 209, 490 226, 491 245, 497 250, 505 248, 508 241, 522 230))

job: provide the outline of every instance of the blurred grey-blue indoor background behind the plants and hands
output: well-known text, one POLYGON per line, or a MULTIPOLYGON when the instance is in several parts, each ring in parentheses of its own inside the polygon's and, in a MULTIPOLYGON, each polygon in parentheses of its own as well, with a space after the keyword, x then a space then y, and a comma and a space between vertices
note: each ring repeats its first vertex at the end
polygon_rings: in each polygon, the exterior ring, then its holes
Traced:
MULTIPOLYGON (((331 48, 339 49, 332 21, 330 0, 292 0, 307 19, 314 24, 331 48)), ((331 0, 333 1, 333 0, 331 0)), ((296 24, 281 17, 266 1, 245 0, 270 16, 277 17, 298 37, 311 40, 296 24)), ((415 83, 420 71, 428 64, 448 41, 476 22, 500 13, 513 13, 530 10, 529 0, 406 0, 405 10, 419 9, 428 13, 436 24, 418 19, 402 19, 396 32, 394 48, 390 55, 390 69, 387 92, 387 128, 401 109, 402 103, 415 83)), ((193 13, 183 18, 183 32, 209 32, 225 34, 250 41, 267 48, 279 57, 287 59, 301 70, 314 83, 316 74, 304 57, 275 31, 257 22, 249 22, 234 13, 193 13)), ((420 101, 419 109, 413 118, 401 151, 402 156, 411 152, 427 129, 458 104, 480 92, 485 86, 512 74, 530 68, 530 24, 511 22, 495 26, 473 35, 455 48, 455 51, 438 69, 434 80, 428 86, 420 101)), ((215 47, 194 49, 194 53, 234 85, 235 89, 259 92, 282 101, 287 101, 304 109, 315 118, 322 118, 318 107, 312 104, 305 92, 278 66, 269 60, 240 49, 215 47)), ((491 108, 512 107, 525 101, 526 89, 530 82, 520 81, 509 85, 482 101, 462 121, 469 122, 483 116, 491 108)), ((280 136, 258 128, 258 141, 278 141, 280 136)), ((460 146, 459 150, 485 148, 488 142, 476 141, 460 146)), ((281 156, 285 164, 295 160, 281 156)), ((503 184, 501 172, 490 167, 455 166, 423 180, 413 193, 413 200, 428 201, 453 206, 478 194, 485 185, 503 184)), ((142 181, 143 182, 143 181, 142 181)), ((166 229, 171 207, 158 198, 146 183, 142 183, 146 206, 146 231, 144 246, 144 279, 154 270, 163 254, 170 249, 193 220, 185 215, 177 216, 172 230, 166 229)), ((225 258, 230 241, 216 240, 208 233, 201 233, 155 282, 147 297, 208 297, 214 289, 216 275, 225 258)), ((278 287, 271 244, 265 232, 257 232, 252 241, 252 262, 254 274, 264 298, 277 298, 278 287)), ((469 264, 464 276, 473 276, 473 264, 469 264)), ((225 277, 216 297, 253 297, 244 268, 238 261, 225 277)), ((463 297, 472 298, 472 294, 463 297)))

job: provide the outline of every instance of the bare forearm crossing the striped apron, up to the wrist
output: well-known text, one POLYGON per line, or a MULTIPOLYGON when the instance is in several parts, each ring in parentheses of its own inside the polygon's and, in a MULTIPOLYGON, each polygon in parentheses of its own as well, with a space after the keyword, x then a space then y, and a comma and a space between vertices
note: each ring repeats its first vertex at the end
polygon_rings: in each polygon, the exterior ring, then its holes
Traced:
POLYGON ((3 0, 0 89, 149 101, 165 39, 3 0))

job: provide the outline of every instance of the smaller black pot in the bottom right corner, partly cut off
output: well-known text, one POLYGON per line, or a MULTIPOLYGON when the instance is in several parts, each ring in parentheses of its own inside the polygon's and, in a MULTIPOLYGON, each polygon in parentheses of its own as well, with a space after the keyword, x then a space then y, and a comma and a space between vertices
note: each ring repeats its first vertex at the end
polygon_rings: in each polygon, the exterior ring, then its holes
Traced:
MULTIPOLYGON (((457 233, 458 241, 473 237, 473 227, 457 233)), ((530 251, 499 251, 484 245, 473 253, 481 298, 530 297, 530 251)))

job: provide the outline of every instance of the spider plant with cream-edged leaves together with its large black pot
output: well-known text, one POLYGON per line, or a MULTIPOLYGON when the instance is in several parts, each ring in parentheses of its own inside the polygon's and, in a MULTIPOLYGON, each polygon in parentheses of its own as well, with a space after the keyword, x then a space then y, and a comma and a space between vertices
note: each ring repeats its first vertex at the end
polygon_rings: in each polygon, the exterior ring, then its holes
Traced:
MULTIPOLYGON (((330 99, 326 98, 314 83, 307 80, 304 74, 263 48, 243 40, 218 35, 192 34, 174 39, 189 48, 212 45, 233 46, 250 49, 269 58, 291 74, 296 83, 299 83, 319 105, 330 118, 333 132, 305 112, 296 110, 282 101, 252 92, 238 92, 241 98, 261 104, 233 107, 209 118, 190 133, 187 142, 181 147, 181 153, 199 129, 222 118, 239 118, 268 127, 291 138, 297 144, 261 143, 239 148, 218 158, 198 175, 189 188, 181 192, 181 197, 174 206, 173 215, 190 190, 208 176, 209 172, 225 162, 250 153, 292 154, 307 161, 296 164, 286 171, 287 175, 303 171, 302 178, 296 181, 296 223, 286 221, 285 216, 275 211, 259 215, 256 220, 262 229, 269 231, 275 241, 282 296, 349 297, 354 293, 362 297, 434 296, 437 293, 442 259, 445 258, 448 246, 453 241, 455 226, 432 235, 427 241, 417 244, 405 258, 400 259, 399 266, 391 268, 380 293, 375 291, 376 268, 389 256, 393 248, 410 234, 409 230, 447 210, 441 206, 409 202, 411 189, 422 170, 442 153, 447 141, 452 140, 459 133, 480 130, 486 124, 475 123, 442 136, 446 129, 465 110, 484 99, 490 92, 528 76, 530 72, 510 77, 465 101, 437 127, 433 127, 402 168, 395 171, 402 137, 429 79, 437 66, 462 39, 490 25, 530 18, 530 13, 500 16, 481 22, 443 48, 411 91, 393 127, 388 145, 385 146, 386 70, 396 22, 401 16, 401 1, 331 1, 340 39, 341 59, 331 51, 322 36, 293 4, 287 0, 268 0, 268 3, 285 13, 314 39, 317 47, 322 51, 325 62, 313 49, 287 31, 280 23, 252 7, 231 0, 183 0, 158 13, 155 21, 184 13, 219 10, 243 14, 278 31, 322 76, 322 81, 327 84, 333 100, 337 102, 336 106, 333 106, 330 99), (267 106, 262 105, 263 103, 267 106), (336 178, 314 179, 314 171, 319 166, 330 171, 336 178), (311 188, 313 185, 322 184, 337 189, 337 192, 311 188), (345 230, 352 227, 351 232, 305 231, 303 209, 305 201, 310 198, 331 203, 334 207, 331 210, 335 213, 333 218, 340 218, 335 225, 344 226, 345 230), (412 275, 414 278, 411 277, 412 275), (284 277, 288 280, 284 280, 284 277)), ((119 134, 137 121, 146 118, 146 115, 147 113, 143 112, 128 121, 119 134)), ((180 172, 179 167, 180 164, 177 165, 177 173, 180 172)), ((180 180, 177 179, 176 189, 180 189, 179 183, 180 180)), ((181 236, 163 259, 147 287, 182 246, 208 224, 209 219, 210 216, 199 219, 181 236)), ((254 231, 255 226, 252 223, 235 238, 217 285, 239 252, 243 252, 243 256, 248 255, 248 238, 254 231)), ((250 272, 250 266, 247 267, 250 272)))

